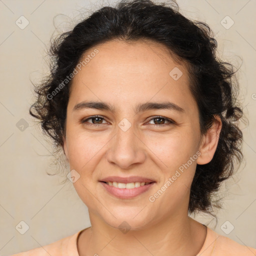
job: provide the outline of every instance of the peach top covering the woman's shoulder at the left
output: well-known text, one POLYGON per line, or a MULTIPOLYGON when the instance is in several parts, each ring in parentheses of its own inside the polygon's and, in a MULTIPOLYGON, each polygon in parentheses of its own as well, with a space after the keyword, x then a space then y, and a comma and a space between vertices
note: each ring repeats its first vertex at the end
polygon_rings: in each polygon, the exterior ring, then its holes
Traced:
POLYGON ((65 252, 65 254, 68 252, 70 256, 78 256, 76 239, 81 231, 82 230, 42 247, 30 249, 11 256, 59 256, 63 254, 63 252, 65 252))

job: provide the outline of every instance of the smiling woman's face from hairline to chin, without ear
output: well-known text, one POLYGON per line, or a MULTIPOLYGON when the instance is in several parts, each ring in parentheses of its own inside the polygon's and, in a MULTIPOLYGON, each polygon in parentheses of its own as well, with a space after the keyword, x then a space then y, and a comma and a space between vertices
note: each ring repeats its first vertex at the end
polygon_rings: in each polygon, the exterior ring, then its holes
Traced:
POLYGON ((97 218, 118 227, 126 221, 139 229, 187 215, 200 130, 185 66, 150 41, 108 41, 87 55, 71 85, 64 151, 91 223, 97 218), (92 101, 102 104, 81 103, 92 101), (116 188, 101 182, 109 176, 140 177, 119 183, 154 182, 116 188))

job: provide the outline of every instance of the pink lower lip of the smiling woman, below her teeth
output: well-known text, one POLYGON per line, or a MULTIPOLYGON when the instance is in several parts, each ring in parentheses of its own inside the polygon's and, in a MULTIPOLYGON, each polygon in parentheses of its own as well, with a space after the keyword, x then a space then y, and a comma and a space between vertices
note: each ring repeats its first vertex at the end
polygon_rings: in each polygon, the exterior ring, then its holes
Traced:
POLYGON ((134 188, 118 188, 110 186, 102 181, 100 181, 100 183, 110 194, 114 195, 115 197, 120 199, 129 199, 147 191, 152 185, 154 185, 155 182, 134 188))

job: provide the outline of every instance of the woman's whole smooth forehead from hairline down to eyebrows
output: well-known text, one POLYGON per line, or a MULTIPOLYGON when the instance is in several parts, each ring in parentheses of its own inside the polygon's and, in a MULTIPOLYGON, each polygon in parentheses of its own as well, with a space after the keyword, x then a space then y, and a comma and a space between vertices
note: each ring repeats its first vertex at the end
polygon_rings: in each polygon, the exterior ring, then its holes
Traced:
POLYGON ((153 97, 154 101, 179 101, 184 108, 193 100, 186 65, 177 63, 160 43, 111 40, 86 50, 81 61, 86 57, 89 61, 72 81, 74 104, 86 97, 110 103, 131 98, 140 103, 153 97), (91 54, 95 49, 98 52, 91 54))

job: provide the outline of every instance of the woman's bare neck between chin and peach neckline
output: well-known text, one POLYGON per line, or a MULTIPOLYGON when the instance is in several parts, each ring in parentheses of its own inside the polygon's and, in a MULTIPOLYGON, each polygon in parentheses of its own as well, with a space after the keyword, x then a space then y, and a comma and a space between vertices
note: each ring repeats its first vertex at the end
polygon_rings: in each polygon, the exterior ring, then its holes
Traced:
POLYGON ((79 255, 196 255, 206 228, 189 216, 171 216, 140 230, 122 232, 90 213, 91 227, 79 236, 79 255))

